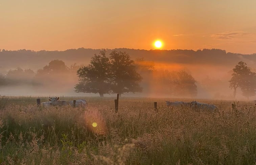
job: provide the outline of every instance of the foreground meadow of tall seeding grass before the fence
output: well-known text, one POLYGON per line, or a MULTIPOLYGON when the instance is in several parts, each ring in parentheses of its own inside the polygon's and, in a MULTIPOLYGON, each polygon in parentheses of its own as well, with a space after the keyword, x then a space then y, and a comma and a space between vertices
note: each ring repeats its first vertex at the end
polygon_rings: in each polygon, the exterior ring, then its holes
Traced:
POLYGON ((256 107, 0 105, 0 164, 255 164, 256 107))

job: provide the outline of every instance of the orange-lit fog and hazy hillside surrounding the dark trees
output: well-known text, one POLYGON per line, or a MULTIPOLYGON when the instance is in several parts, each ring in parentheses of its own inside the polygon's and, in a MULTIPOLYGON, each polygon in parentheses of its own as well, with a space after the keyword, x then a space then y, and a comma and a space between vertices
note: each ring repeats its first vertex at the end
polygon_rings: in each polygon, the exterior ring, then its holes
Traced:
MULTIPOLYGON (((127 97, 205 98, 233 99, 229 88, 232 69, 244 61, 255 72, 256 54, 226 53, 224 50, 134 50, 127 52, 135 61, 143 80, 141 93, 124 93, 127 97), (182 85, 172 87, 172 82, 185 71, 196 81, 197 92, 183 91, 182 85)), ((72 49, 66 51, 6 51, 0 52, 0 94, 21 95, 83 95, 99 96, 98 93, 76 93, 76 71, 87 66, 99 49, 72 49), (55 62, 51 62, 55 60, 55 62), (60 62, 61 60, 61 62, 60 62), (63 61, 63 63, 62 63, 63 61), (51 63, 50 63, 51 62, 51 63)), ((107 50, 107 56, 113 50, 107 50)), ((105 94, 104 96, 114 96, 105 94)), ((238 100, 247 98, 238 89, 238 100)), ((251 97, 251 99, 256 99, 251 97)))

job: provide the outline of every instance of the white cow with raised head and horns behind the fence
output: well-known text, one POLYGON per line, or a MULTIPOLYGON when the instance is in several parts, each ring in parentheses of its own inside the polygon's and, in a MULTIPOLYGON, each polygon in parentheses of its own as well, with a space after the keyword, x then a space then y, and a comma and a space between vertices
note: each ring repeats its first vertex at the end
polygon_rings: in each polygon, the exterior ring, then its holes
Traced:
MULTIPOLYGON (((50 97, 49 97, 50 98, 50 97)), ((55 98, 50 98, 49 101, 52 103, 53 106, 65 106, 65 105, 74 105, 73 101, 66 101, 66 100, 59 100, 60 98, 55 97, 55 98)), ((86 100, 76 100, 75 102, 75 107, 87 107, 88 103, 86 100)))

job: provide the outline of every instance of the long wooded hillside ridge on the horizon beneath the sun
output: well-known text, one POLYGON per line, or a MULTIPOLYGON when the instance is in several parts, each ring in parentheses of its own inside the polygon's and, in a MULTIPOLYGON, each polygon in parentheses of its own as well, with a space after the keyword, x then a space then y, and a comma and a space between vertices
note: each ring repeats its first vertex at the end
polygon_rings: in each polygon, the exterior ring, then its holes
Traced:
MULTIPOLYGON (((226 53, 225 50, 204 49, 204 50, 136 50, 119 48, 116 51, 125 51, 135 59, 144 57, 145 60, 154 62, 179 63, 179 64, 209 64, 209 65, 225 65, 233 67, 239 61, 245 61, 248 65, 255 65, 256 54, 236 54, 226 53)), ((108 49, 107 53, 113 51, 108 49)), ((37 70, 48 64, 51 60, 59 59, 65 61, 67 65, 88 64, 90 58, 97 54, 100 49, 69 49, 66 51, 0 51, 0 68, 8 70, 10 68, 31 68, 37 70)))

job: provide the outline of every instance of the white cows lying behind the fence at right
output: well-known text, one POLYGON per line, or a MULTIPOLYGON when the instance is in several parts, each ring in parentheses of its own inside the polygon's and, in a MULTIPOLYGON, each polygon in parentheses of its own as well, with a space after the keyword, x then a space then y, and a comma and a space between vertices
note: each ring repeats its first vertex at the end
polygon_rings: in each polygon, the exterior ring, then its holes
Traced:
POLYGON ((218 107, 216 107, 215 105, 212 104, 205 104, 205 103, 199 103, 196 101, 192 101, 192 102, 169 102, 166 101, 166 105, 168 107, 181 107, 181 106, 187 106, 191 109, 207 109, 210 111, 214 111, 214 110, 218 110, 218 107))

